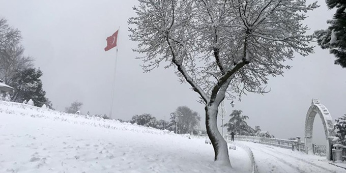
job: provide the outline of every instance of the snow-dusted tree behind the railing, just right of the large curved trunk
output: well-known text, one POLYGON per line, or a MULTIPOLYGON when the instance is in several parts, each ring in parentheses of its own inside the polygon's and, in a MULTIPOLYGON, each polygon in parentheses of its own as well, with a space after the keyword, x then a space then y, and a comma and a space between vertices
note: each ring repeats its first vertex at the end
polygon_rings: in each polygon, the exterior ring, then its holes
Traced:
POLYGON ((229 114, 229 121, 223 125, 227 127, 228 132, 235 132, 239 135, 249 135, 251 127, 247 125, 246 120, 249 119, 248 116, 242 116, 242 110, 233 110, 229 114))

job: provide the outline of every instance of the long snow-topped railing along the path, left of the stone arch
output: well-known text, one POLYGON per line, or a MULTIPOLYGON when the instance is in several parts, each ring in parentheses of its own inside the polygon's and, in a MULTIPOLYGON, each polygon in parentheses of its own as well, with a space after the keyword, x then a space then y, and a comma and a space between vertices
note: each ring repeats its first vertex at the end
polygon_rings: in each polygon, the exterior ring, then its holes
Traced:
MULTIPOLYGON (((225 136, 226 139, 230 139, 230 136, 225 136)), ((287 140, 287 139, 276 139, 276 138, 265 138, 257 136, 235 136, 235 140, 252 141, 255 143, 262 143, 264 145, 280 147, 284 149, 291 149, 293 151, 305 152, 304 142, 299 140, 287 140)))

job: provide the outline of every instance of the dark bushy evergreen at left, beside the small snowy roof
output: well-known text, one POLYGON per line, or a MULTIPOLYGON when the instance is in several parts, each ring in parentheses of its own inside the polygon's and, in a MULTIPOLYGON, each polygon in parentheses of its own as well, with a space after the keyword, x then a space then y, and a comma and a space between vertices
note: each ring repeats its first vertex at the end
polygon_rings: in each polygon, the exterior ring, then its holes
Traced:
POLYGON ((15 89, 12 101, 21 103, 24 100, 32 99, 35 106, 41 107, 46 103, 51 106, 50 101, 45 97, 46 92, 42 88, 43 85, 40 79, 42 75, 42 71, 35 68, 17 72, 12 81, 12 87, 15 89))

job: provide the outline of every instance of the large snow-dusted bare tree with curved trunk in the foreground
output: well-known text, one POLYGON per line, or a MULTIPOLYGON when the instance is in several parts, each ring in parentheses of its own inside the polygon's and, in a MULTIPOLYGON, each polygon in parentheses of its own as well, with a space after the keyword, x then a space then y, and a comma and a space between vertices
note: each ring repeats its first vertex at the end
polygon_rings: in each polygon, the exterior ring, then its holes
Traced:
POLYGON ((312 52, 313 36, 301 21, 318 6, 304 0, 138 0, 129 19, 134 51, 142 68, 177 67, 205 104, 206 127, 215 161, 229 165, 227 143, 217 128, 217 111, 227 96, 266 93, 267 76, 282 75, 293 53, 312 52), (228 86, 231 87, 228 87, 228 86))

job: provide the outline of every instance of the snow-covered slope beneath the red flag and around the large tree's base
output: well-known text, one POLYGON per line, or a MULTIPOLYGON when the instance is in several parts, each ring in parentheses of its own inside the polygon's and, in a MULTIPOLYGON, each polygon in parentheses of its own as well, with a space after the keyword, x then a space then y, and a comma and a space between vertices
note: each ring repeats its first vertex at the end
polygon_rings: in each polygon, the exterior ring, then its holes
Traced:
POLYGON ((205 137, 0 101, 0 172, 250 172, 246 151, 233 168, 214 162, 205 137))

